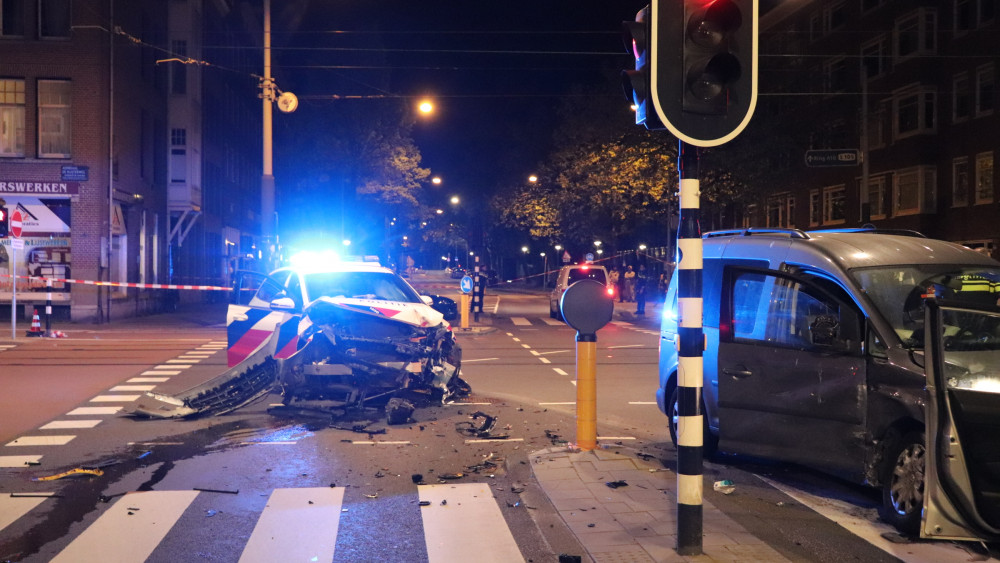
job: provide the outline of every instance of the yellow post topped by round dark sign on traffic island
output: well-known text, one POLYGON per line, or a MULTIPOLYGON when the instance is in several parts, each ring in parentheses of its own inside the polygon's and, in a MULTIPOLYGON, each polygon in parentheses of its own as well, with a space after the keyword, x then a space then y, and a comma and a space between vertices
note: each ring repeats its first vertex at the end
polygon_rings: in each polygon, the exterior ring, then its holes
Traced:
POLYGON ((563 318, 576 329, 576 446, 597 448, 597 331, 611 320, 615 304, 604 284, 580 280, 560 301, 563 318))

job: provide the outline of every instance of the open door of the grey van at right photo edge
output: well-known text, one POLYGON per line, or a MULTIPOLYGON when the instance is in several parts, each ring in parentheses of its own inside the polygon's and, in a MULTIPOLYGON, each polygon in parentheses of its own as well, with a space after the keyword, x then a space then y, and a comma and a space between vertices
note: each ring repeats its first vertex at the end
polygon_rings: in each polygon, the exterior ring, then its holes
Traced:
MULTIPOLYGON (((1000 297, 1000 295, 997 295, 1000 297)), ((920 536, 1000 538, 1000 307, 926 299, 920 536)))

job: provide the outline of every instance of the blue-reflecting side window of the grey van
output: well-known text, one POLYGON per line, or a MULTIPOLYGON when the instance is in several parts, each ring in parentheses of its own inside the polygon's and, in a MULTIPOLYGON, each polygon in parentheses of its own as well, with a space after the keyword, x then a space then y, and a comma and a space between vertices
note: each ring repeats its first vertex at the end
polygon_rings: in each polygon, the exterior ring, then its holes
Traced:
POLYGON ((736 341, 816 349, 817 323, 839 325, 840 306, 793 279, 760 272, 734 277, 732 327, 736 341))

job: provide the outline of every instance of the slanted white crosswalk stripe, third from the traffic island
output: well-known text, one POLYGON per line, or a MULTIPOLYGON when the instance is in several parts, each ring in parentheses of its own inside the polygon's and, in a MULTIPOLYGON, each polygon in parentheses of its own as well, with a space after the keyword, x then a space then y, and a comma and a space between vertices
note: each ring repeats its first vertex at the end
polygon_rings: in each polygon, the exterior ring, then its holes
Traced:
POLYGON ((196 496, 198 491, 129 493, 52 561, 145 561, 196 496))

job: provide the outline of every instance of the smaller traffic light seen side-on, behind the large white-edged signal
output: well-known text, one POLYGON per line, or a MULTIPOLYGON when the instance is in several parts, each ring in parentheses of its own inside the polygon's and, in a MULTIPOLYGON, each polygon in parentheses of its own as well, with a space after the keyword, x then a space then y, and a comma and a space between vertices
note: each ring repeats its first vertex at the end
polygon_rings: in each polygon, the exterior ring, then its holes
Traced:
POLYGON ((635 123, 646 129, 664 129, 653 107, 652 84, 652 20, 649 6, 639 10, 635 21, 622 22, 625 50, 635 56, 635 70, 622 71, 625 98, 635 109, 635 123))

